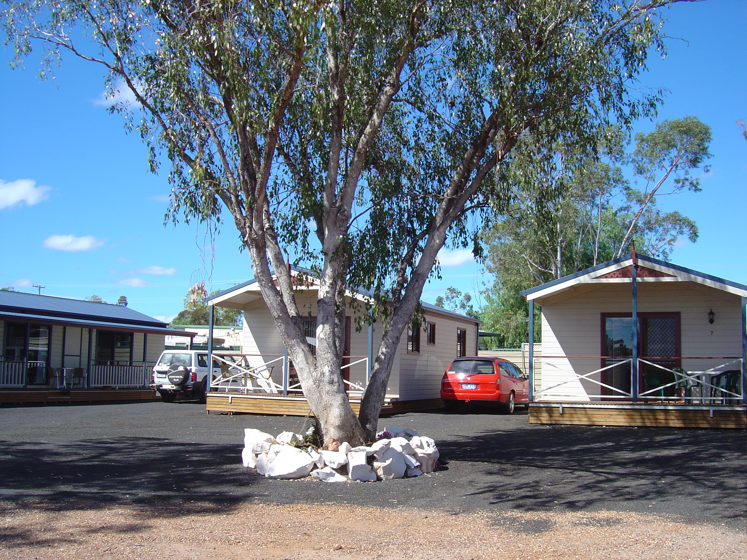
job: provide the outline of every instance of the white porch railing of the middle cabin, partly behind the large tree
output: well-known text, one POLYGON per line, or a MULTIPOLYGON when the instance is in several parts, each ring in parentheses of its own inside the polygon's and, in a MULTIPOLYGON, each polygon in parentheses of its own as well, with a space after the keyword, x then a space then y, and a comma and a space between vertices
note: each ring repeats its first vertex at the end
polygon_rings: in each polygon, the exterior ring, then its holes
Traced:
MULTIPOLYGON (((222 372, 213 373, 211 391, 303 395, 300 382, 290 378, 289 361, 285 355, 241 354, 232 355, 232 358, 239 359, 230 361, 220 355, 213 355, 213 359, 221 365, 222 372), (273 359, 258 363, 266 358, 273 359)), ((356 378, 360 378, 359 383, 343 379, 344 385, 347 385, 347 393, 350 396, 362 396, 366 385, 365 371, 368 369, 368 357, 345 356, 345 358, 354 361, 344 364, 340 369, 349 369, 352 372, 353 366, 359 366, 356 368, 356 378), (360 364, 363 364, 364 370, 362 371, 360 364)))

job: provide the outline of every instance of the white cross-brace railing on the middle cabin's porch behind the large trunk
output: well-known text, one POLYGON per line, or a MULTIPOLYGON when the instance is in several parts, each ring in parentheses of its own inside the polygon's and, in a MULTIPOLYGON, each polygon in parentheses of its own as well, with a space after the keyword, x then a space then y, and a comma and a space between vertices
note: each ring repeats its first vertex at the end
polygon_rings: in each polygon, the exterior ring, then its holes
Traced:
MULTIPOLYGON (((220 391, 221 388, 225 389, 226 391, 244 391, 244 393, 250 393, 250 392, 262 392, 262 393, 279 393, 283 391, 283 385, 276 383, 273 381, 273 379, 270 377, 270 373, 272 372, 271 364, 275 364, 278 361, 282 361, 282 370, 283 370, 283 376, 286 375, 288 371, 287 367, 287 358, 285 356, 279 356, 278 358, 274 358, 273 360, 266 361, 263 364, 252 366, 249 364, 249 356, 261 356, 261 355, 251 355, 251 354, 242 354, 241 360, 237 362, 235 361, 228 361, 226 358, 222 358, 219 355, 214 354, 213 359, 218 361, 219 363, 225 364, 226 367, 228 367, 229 371, 226 373, 221 373, 220 375, 216 376, 216 374, 213 374, 212 381, 211 381, 211 388, 215 388, 218 391, 220 391), (266 373, 266 375, 263 375, 263 373, 266 373), (254 382, 257 382, 259 387, 254 386, 254 382), (237 383, 238 386, 235 387, 233 384, 237 383)), ((349 356, 348 358, 358 358, 358 356, 349 356)), ((361 363, 368 363, 368 356, 364 356, 356 361, 350 362, 350 364, 344 364, 340 367, 340 370, 344 370, 346 368, 352 367, 356 364, 361 363)), ((361 385, 358 385, 357 383, 354 383, 352 381, 349 381, 347 379, 343 379, 342 382, 344 385, 347 385, 347 392, 348 393, 363 393, 366 389, 365 387, 362 387, 361 385), (353 389, 356 389, 356 391, 353 391, 353 389)), ((293 385, 288 385, 288 380, 285 382, 286 389, 288 393, 302 393, 303 390, 301 388, 300 382, 294 383, 293 385)))

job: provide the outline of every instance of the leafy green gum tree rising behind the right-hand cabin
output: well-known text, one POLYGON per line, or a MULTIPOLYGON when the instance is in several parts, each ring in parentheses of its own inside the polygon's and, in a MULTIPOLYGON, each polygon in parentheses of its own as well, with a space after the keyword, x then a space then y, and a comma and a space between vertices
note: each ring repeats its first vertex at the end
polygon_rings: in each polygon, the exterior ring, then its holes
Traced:
MULTIPOLYGON (((530 144, 510 175, 518 185, 514 201, 483 232, 486 271, 495 278, 480 309, 483 328, 518 346, 528 325, 521 290, 616 258, 631 239, 639 252, 664 259, 681 237, 695 242, 697 225, 678 211, 663 211, 656 196, 668 180, 669 194, 699 190, 690 171, 707 170, 709 143, 710 128, 685 117, 637 134, 630 153, 615 130, 600 131, 595 153, 554 146, 538 154, 530 144), (643 190, 624 177, 622 165, 646 181, 643 190)), ((535 326, 540 340, 539 322, 535 326)))

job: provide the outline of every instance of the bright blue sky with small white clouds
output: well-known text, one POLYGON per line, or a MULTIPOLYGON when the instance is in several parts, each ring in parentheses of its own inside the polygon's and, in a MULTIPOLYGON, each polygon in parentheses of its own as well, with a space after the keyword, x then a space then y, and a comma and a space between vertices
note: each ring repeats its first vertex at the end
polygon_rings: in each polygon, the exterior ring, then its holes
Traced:
MULTIPOLYGON (((747 2, 707 0, 668 10, 665 60, 652 57, 642 86, 669 90, 657 119, 695 115, 713 128, 711 172, 700 193, 662 202, 698 223, 697 243, 683 243, 672 261, 747 283, 742 243, 747 206, 747 140, 735 121, 747 119, 747 2)), ((1 51, 0 51, 1 52, 1 51)), ((40 81, 32 57, 25 70, 0 65, 0 285, 114 302, 172 317, 194 281, 226 288, 252 276, 249 257, 229 222, 202 248, 204 226, 167 225, 165 172, 148 172, 146 149, 127 135, 102 102, 103 74, 67 57, 54 81, 40 81), (14 200, 19 202, 13 203, 14 200)), ((636 124, 651 131, 654 122, 636 124)), ((447 286, 475 293, 483 281, 468 255, 444 258, 443 279, 429 284, 433 302, 447 286)))

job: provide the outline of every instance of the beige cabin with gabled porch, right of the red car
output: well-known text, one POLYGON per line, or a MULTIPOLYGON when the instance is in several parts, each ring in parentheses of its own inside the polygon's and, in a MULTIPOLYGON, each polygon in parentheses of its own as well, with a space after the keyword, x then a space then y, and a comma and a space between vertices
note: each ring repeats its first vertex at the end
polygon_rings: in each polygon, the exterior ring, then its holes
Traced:
POLYGON ((747 286, 633 254, 522 294, 542 306, 535 402, 743 407, 747 286))

